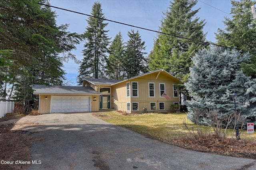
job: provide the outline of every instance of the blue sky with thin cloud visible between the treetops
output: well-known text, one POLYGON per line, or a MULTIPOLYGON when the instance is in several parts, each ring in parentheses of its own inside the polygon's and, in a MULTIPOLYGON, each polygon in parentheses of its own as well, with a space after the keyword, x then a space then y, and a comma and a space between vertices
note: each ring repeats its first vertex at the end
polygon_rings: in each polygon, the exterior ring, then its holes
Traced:
MULTIPOLYGON (((92 5, 95 0, 50 0, 51 6, 64 8, 84 14, 91 13, 92 5)), ((170 0, 98 0, 102 4, 102 12, 108 20, 114 20, 138 27, 144 27, 158 31, 160 21, 163 17, 163 12, 168 10, 170 0)), ((230 18, 231 4, 230 0, 198 0, 194 9, 201 8, 197 13, 200 20, 205 20, 204 32, 207 32, 207 41, 215 42, 214 33, 218 28, 224 29, 225 17, 230 18), (216 9, 217 8, 217 9, 216 9)), ((75 14, 72 12, 52 8, 58 16, 56 18, 57 25, 69 24, 68 31, 82 34, 86 30, 88 16, 75 14)), ((131 29, 138 30, 142 40, 145 41, 146 53, 150 53, 153 47, 155 32, 138 29, 118 23, 109 21, 106 30, 109 30, 108 36, 112 39, 120 31, 123 35, 124 42, 128 41, 127 33, 131 29)), ((111 39, 111 40, 112 40, 111 39)), ((82 49, 84 43, 77 45, 77 50, 72 51, 76 58, 82 60, 82 49)), ((146 55, 147 57, 147 55, 146 55)), ((64 63, 64 70, 66 71, 67 82, 66 85, 77 85, 76 76, 78 75, 79 65, 70 60, 64 63)))

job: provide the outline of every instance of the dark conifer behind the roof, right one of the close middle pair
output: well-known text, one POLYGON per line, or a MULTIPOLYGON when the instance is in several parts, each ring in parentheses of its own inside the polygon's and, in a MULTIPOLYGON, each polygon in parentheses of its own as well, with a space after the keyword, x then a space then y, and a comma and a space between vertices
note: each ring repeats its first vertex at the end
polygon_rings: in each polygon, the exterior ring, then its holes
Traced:
POLYGON ((142 41, 139 31, 135 33, 134 30, 128 31, 129 40, 126 43, 124 50, 124 72, 126 78, 138 76, 147 71, 147 60, 143 52, 146 49, 145 41, 142 41))

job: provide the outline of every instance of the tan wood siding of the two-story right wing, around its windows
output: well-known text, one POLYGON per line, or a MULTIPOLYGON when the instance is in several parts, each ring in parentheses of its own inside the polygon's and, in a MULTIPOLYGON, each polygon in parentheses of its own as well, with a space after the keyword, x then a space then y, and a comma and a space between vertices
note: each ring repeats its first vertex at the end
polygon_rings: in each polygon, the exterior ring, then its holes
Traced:
POLYGON ((112 96, 114 97, 114 100, 112 100, 112 106, 114 106, 115 109, 126 111, 126 103, 130 102, 131 111, 128 112, 142 113, 145 112, 144 107, 147 108, 148 112, 151 112, 150 102, 156 102, 158 113, 170 111, 170 106, 173 105, 174 102, 179 102, 179 98, 174 98, 173 95, 173 84, 176 82, 177 80, 175 78, 172 79, 169 74, 164 73, 158 75, 158 73, 154 73, 113 85, 112 96), (130 82, 130 98, 126 98, 127 82, 130 82), (138 82, 138 97, 132 97, 132 82, 138 82), (154 97, 149 97, 149 82, 154 83, 154 97), (169 100, 160 97, 160 83, 165 84, 165 93, 170 96, 169 100), (133 102, 139 103, 139 111, 132 111, 133 102), (164 110, 159 110, 159 102, 164 102, 164 110))

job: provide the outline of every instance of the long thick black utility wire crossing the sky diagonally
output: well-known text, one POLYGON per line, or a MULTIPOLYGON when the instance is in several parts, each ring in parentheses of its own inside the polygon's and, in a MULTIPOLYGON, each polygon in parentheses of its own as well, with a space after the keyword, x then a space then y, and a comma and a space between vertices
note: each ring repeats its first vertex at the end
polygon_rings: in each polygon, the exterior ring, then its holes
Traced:
POLYGON ((108 20, 108 19, 106 19, 106 18, 100 18, 100 17, 97 17, 97 16, 92 16, 92 15, 84 14, 84 13, 81 13, 81 12, 76 12, 76 11, 72 11, 72 10, 67 10, 67 9, 64 9, 64 8, 59 8, 59 7, 51 6, 51 5, 47 5, 47 4, 42 4, 42 3, 39 3, 39 2, 38 2, 38 4, 44 5, 44 6, 48 6, 48 7, 52 7, 52 8, 57 8, 57 9, 59 9, 59 10, 64 10, 64 11, 68 11, 68 12, 73 12, 73 13, 76 13, 76 14, 81 14, 81 15, 84 15, 84 16, 89 16, 89 17, 98 18, 98 19, 100 19, 100 20, 106 20, 106 21, 110 21, 110 22, 114 22, 114 23, 119 23, 119 24, 122 24, 122 25, 128 25, 128 26, 130 26, 130 27, 136 27, 136 28, 139 28, 139 29, 144 29, 144 30, 153 31, 153 32, 156 32, 156 33, 161 33, 161 34, 165 34, 165 35, 170 35, 170 36, 177 37, 177 38, 181 38, 181 39, 187 39, 187 40, 190 40, 190 41, 196 41, 196 42, 202 43, 202 45, 216 45, 216 46, 219 46, 219 47, 231 48, 231 47, 226 47, 226 46, 222 46, 222 45, 218 45, 218 44, 214 44, 214 43, 210 43, 210 42, 204 42, 204 41, 200 41, 200 40, 196 40, 196 39, 190 39, 190 38, 181 37, 181 36, 178 36, 178 35, 172 35, 172 34, 169 34, 169 33, 163 33, 163 32, 155 31, 155 30, 152 30, 152 29, 147 29, 147 28, 143 28, 143 27, 138 27, 138 26, 135 26, 135 25, 127 24, 127 23, 122 23, 122 22, 118 22, 118 21, 108 20))

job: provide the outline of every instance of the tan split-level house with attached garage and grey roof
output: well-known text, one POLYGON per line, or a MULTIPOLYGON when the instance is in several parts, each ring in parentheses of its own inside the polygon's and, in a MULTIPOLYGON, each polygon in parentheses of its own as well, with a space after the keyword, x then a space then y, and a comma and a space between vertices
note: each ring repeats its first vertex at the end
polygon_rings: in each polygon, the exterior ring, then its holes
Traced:
POLYGON ((39 113, 71 113, 115 109, 128 113, 170 112, 179 104, 179 82, 163 69, 126 80, 84 78, 82 86, 34 84, 39 113), (166 94, 166 95, 162 95, 166 94), (165 97, 164 97, 165 96, 165 97))

